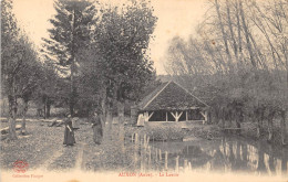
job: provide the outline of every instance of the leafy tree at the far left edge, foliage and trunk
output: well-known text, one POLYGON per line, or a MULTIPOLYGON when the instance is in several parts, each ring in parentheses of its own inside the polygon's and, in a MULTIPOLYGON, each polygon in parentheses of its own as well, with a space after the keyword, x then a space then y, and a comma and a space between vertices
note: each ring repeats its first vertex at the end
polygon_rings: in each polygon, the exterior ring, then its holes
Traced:
MULTIPOLYGON (((28 97, 35 88, 37 72, 39 67, 37 53, 32 43, 18 28, 12 12, 12 2, 1 1, 1 83, 2 94, 9 101, 9 137, 17 139, 16 117, 18 113, 18 98, 28 103, 28 97)), ((24 132, 24 120, 22 132, 24 132)))

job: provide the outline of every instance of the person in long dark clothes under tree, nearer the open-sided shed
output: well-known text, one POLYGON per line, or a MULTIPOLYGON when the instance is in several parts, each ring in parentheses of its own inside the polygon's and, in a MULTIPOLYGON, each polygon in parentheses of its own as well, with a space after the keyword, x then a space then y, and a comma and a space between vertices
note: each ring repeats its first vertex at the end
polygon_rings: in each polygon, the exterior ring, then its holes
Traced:
POLYGON ((92 117, 92 129, 93 129, 94 142, 96 144, 101 144, 101 141, 103 138, 103 130, 102 130, 101 118, 96 111, 94 113, 94 116, 92 117))

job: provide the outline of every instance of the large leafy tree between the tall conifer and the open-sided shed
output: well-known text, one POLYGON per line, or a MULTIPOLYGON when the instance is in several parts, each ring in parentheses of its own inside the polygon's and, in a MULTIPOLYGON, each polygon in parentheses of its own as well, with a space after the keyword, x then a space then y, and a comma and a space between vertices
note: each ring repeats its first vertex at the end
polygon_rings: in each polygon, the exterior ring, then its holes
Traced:
POLYGON ((148 3, 133 1, 122 9, 107 9, 97 24, 94 41, 105 69, 106 96, 117 101, 122 115, 124 100, 137 98, 153 75, 146 52, 155 23, 148 3))

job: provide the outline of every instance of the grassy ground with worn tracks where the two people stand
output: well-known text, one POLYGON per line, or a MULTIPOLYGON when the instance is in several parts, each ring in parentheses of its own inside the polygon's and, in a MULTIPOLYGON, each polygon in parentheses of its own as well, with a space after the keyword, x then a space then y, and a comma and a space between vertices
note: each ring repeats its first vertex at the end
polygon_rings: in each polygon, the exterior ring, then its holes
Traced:
MULTIPOLYGON (((75 131, 76 144, 63 146, 64 127, 49 127, 49 122, 28 121, 27 136, 19 136, 17 141, 1 141, 0 163, 2 170, 11 170, 16 160, 25 160, 30 169, 66 171, 82 169, 88 171, 120 170, 128 167, 132 156, 130 142, 125 142, 125 152, 119 150, 117 137, 107 136, 101 144, 93 142, 91 125, 82 122, 75 131)), ((1 122, 1 128, 8 126, 1 122)), ((116 135, 116 128, 113 132, 116 135), (114 131, 115 130, 115 131, 114 131)))

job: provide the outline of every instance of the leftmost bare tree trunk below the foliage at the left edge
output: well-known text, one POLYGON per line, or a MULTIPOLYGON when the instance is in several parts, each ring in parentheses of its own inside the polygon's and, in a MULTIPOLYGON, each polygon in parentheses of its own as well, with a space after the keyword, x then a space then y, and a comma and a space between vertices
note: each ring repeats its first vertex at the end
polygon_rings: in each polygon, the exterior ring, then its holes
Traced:
POLYGON ((9 101, 9 138, 17 139, 16 133, 16 117, 17 117, 17 98, 12 95, 8 96, 9 101))

